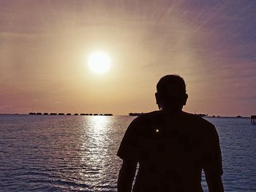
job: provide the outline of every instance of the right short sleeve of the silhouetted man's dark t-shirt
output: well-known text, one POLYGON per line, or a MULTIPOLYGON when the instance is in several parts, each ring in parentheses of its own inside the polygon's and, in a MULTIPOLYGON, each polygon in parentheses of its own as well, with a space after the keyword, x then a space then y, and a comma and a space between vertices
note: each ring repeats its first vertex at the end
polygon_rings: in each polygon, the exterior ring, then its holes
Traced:
POLYGON ((206 148, 203 153, 203 170, 206 174, 223 174, 219 136, 214 126, 212 126, 210 134, 206 138, 206 148))

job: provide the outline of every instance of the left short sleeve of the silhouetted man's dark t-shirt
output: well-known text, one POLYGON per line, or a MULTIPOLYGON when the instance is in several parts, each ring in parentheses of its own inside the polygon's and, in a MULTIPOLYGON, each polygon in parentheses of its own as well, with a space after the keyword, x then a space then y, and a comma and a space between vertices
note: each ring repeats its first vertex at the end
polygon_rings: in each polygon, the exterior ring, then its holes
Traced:
POLYGON ((118 157, 123 160, 138 161, 139 158, 139 139, 138 139, 138 118, 132 121, 124 134, 121 145, 118 149, 118 157))

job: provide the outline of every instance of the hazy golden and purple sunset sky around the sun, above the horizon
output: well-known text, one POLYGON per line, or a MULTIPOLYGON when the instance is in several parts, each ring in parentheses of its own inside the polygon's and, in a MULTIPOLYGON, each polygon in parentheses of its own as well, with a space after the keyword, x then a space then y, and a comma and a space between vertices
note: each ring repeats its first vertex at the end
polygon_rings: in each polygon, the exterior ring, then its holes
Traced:
POLYGON ((0 0, 0 113, 149 112, 165 74, 187 112, 256 115, 256 1, 0 0))

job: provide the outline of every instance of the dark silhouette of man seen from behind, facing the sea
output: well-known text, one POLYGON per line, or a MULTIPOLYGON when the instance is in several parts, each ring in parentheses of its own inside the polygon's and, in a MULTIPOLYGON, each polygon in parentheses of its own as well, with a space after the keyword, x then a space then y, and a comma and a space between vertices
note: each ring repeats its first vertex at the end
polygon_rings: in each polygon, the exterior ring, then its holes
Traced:
POLYGON ((224 191, 216 128, 182 111, 188 98, 184 80, 178 75, 162 77, 155 96, 159 111, 135 118, 118 149, 123 159, 118 191, 199 192, 202 170, 209 192, 224 191))

